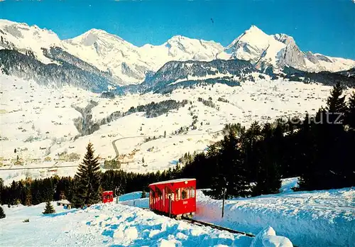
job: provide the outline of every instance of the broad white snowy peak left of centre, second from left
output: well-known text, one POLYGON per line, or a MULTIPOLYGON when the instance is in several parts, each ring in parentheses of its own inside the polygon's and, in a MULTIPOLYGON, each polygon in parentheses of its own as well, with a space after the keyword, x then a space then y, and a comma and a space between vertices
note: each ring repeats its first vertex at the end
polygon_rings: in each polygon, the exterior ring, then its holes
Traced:
POLYGON ((68 53, 91 63, 99 70, 111 72, 119 84, 143 81, 150 70, 148 61, 137 52, 137 47, 116 35, 91 29, 70 40, 62 41, 68 53))

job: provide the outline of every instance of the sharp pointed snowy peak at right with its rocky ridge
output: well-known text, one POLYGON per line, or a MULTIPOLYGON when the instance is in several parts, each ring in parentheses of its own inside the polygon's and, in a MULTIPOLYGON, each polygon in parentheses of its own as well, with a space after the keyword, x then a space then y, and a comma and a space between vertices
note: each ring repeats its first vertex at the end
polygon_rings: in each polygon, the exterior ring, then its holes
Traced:
POLYGON ((283 33, 268 35, 256 26, 239 35, 226 52, 233 58, 251 61, 257 68, 290 66, 308 72, 337 72, 355 66, 354 60, 304 53, 293 37, 283 33))

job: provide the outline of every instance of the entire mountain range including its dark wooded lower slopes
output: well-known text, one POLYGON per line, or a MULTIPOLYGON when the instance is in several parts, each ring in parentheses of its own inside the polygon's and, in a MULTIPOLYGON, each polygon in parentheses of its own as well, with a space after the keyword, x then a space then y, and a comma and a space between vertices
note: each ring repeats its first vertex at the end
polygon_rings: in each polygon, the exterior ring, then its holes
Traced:
POLYGON ((174 35, 161 45, 138 47, 96 28, 60 40, 53 31, 4 20, 0 20, 0 38, 2 72, 40 80, 41 84, 55 84, 58 80, 59 85, 72 84, 94 92, 114 88, 120 94, 169 92, 178 86, 202 82, 236 85, 246 79, 253 81, 251 75, 246 75, 252 72, 301 82, 320 79, 324 84, 331 84, 331 78, 344 77, 346 84, 354 84, 352 77, 345 78, 352 75, 354 60, 305 53, 292 36, 268 35, 256 26, 226 47, 213 40, 182 35, 174 35), (11 55, 22 57, 21 61, 11 55), (322 73, 321 67, 330 69, 322 73), (290 75, 283 75, 285 71, 290 75), (332 75, 334 71, 339 73, 332 75))

